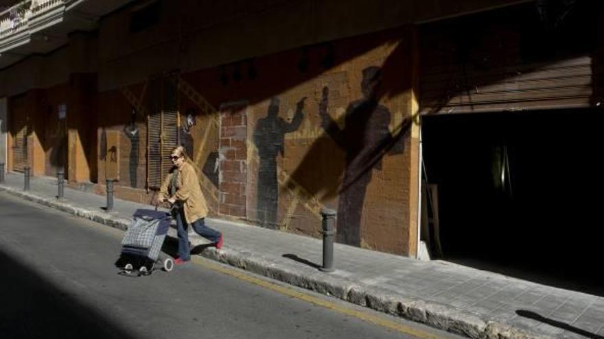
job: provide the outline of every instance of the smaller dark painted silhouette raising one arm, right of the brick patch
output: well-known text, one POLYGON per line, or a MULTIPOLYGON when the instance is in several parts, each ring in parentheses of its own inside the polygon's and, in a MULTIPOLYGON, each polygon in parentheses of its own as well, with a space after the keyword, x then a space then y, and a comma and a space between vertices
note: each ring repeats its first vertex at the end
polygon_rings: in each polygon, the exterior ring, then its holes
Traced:
POLYGON ((304 118, 303 97, 296 104, 290 123, 279 117, 279 98, 273 97, 266 117, 259 119, 254 130, 254 144, 258 149, 257 218, 264 227, 277 227, 279 184, 277 183, 277 156, 284 153, 285 134, 296 131, 304 118))

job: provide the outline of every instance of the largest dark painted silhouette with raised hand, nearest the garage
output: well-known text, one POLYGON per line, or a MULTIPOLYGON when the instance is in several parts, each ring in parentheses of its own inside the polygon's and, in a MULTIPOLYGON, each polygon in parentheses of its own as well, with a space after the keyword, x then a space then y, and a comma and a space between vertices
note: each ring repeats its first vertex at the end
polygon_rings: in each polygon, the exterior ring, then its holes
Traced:
POLYGON ((353 101, 345 112, 345 127, 327 113, 329 88, 323 88, 319 114, 321 126, 336 144, 346 152, 346 167, 338 201, 338 242, 360 246, 360 225, 367 185, 373 168, 382 169, 384 150, 402 153, 399 136, 388 129, 391 113, 380 105, 382 68, 370 66, 362 71, 362 99, 353 101))

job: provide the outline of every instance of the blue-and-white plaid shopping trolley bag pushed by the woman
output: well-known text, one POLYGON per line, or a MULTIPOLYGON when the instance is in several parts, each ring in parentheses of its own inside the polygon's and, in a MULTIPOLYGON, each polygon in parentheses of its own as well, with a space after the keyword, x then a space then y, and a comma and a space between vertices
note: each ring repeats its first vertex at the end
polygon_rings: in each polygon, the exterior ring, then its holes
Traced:
MULTIPOLYGON (((170 229, 170 214, 157 210, 137 210, 132 216, 132 223, 121 240, 121 255, 117 266, 123 267, 123 273, 137 272, 139 275, 150 274, 155 269, 163 240, 170 229)), ((163 269, 172 271, 174 262, 171 258, 163 260, 163 269)))

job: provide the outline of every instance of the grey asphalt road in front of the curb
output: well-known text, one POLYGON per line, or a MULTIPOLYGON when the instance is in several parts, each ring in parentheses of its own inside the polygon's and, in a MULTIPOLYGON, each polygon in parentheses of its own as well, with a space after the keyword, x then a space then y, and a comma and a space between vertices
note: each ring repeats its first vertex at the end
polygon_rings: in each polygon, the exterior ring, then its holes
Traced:
POLYGON ((201 258, 119 275, 122 236, 0 193, 1 338, 458 338, 201 258))

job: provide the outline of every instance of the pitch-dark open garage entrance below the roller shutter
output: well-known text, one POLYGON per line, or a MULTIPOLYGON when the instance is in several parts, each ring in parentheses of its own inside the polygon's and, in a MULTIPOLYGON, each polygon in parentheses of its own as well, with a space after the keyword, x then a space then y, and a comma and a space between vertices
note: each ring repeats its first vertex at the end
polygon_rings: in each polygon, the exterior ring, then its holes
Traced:
POLYGON ((604 295, 603 113, 423 117, 442 258, 604 295))

